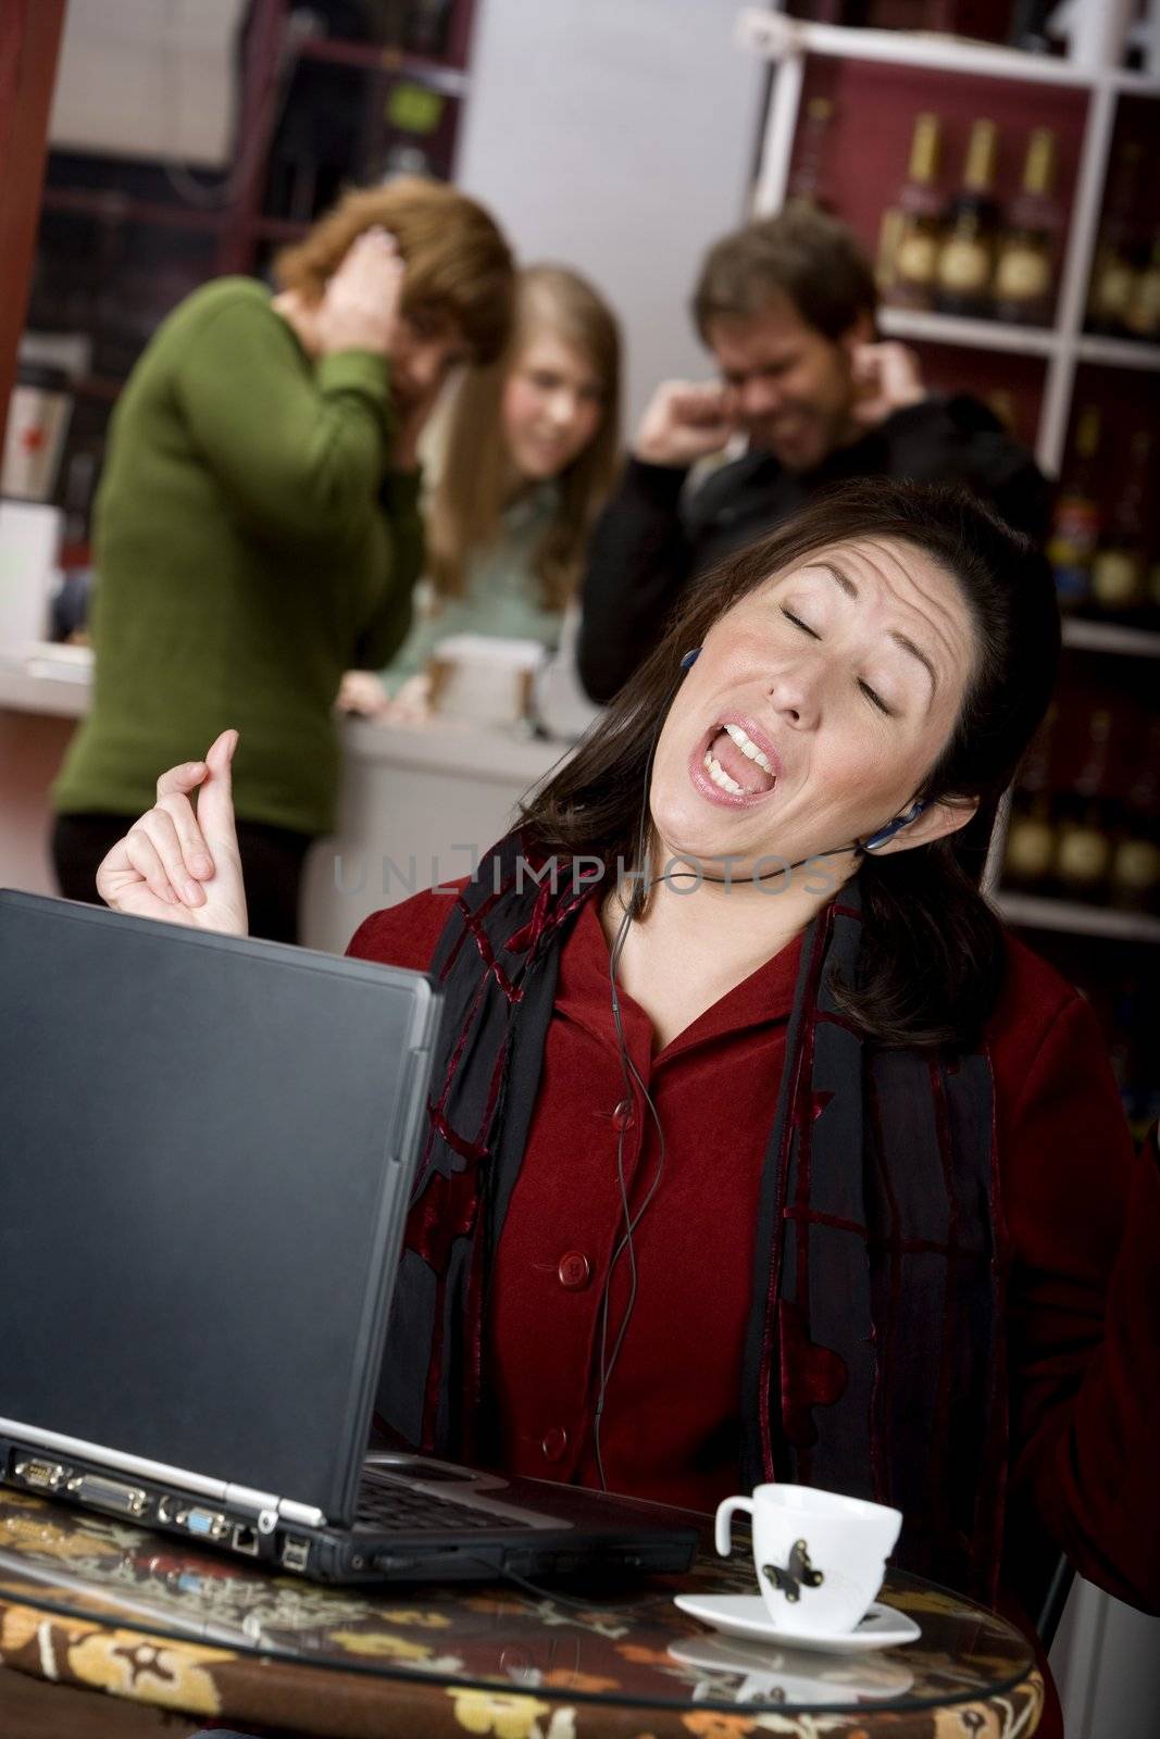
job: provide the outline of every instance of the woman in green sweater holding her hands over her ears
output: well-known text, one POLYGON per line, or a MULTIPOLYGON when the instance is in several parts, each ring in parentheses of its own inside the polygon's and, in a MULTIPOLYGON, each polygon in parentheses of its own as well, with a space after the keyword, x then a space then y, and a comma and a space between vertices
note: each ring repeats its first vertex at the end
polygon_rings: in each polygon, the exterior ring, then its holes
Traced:
POLYGON ((160 327, 113 416, 96 506, 92 710, 54 786, 61 892, 96 901, 155 769, 238 723, 256 934, 296 939, 306 849, 334 824, 334 699, 410 624, 416 442, 459 362, 508 336, 511 256, 452 188, 350 193, 277 263, 160 327))

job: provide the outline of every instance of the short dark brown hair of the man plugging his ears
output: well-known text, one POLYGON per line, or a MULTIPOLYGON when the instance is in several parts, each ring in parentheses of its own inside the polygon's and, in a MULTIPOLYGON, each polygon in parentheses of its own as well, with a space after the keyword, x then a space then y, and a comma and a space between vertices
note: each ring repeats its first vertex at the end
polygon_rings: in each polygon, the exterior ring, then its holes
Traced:
POLYGON ((873 320, 878 306, 875 275, 854 231, 803 205, 750 223, 710 249, 692 318, 708 344, 711 320, 750 320, 779 296, 831 341, 859 315, 873 320))

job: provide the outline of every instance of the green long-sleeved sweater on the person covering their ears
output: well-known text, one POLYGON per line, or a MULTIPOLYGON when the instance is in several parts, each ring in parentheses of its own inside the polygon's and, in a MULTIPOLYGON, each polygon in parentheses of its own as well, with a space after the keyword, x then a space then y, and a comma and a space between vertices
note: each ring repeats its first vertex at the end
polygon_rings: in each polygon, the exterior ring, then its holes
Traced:
POLYGON ((419 478, 388 473, 388 363, 311 363, 250 278, 160 327, 117 405, 96 503, 92 710, 57 810, 137 816, 240 730, 237 812, 334 824, 344 670, 386 663, 423 567, 419 478))

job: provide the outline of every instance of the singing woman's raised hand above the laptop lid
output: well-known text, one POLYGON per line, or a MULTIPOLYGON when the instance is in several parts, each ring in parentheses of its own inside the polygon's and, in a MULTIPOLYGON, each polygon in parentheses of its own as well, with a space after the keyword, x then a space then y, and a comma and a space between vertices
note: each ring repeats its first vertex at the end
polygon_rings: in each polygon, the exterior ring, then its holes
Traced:
POLYGON ((245 936, 245 889, 233 824, 230 767, 237 730, 223 730, 203 762, 170 767, 146 810, 97 870, 97 894, 115 911, 198 930, 245 936), (198 791, 197 812, 191 803, 198 791))

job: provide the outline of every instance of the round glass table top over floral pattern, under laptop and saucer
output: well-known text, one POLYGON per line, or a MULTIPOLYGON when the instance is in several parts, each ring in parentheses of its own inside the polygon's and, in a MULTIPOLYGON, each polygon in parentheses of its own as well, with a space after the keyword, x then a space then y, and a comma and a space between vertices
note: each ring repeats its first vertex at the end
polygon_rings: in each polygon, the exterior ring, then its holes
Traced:
MULTIPOLYGON (((687 1520, 687 1516, 682 1516, 687 1520)), ((1002 1617, 892 1572, 880 1598, 922 1635, 873 1654, 737 1642, 677 1593, 755 1593, 751 1567, 708 1546, 687 1576, 616 1588, 332 1588, 188 1548, 120 1520, 0 1490, 0 1607, 412 1683, 670 1709, 922 1709, 1002 1696, 1033 1668, 1002 1617)))

